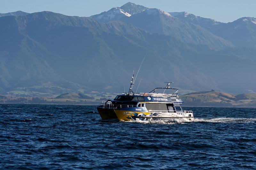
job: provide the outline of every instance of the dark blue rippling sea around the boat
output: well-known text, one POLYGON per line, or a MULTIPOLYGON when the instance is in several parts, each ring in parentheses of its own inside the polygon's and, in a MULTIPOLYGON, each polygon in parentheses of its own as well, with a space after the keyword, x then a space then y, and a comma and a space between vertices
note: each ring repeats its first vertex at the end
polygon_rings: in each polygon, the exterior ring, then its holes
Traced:
POLYGON ((0 104, 0 169, 256 169, 256 108, 102 122, 96 106, 0 104))

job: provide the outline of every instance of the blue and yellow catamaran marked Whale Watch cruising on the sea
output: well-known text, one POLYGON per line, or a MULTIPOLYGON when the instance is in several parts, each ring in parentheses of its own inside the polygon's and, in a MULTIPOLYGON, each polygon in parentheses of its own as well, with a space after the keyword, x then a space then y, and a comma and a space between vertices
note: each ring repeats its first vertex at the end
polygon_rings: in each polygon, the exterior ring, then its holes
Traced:
POLYGON ((183 110, 183 101, 178 96, 179 89, 171 88, 173 82, 165 82, 165 87, 158 87, 151 92, 134 93, 132 91, 134 73, 129 92, 117 95, 113 100, 102 101, 97 107, 103 121, 151 121, 167 120, 171 122, 194 121, 193 111, 183 110), (156 91, 172 90, 172 93, 156 91))

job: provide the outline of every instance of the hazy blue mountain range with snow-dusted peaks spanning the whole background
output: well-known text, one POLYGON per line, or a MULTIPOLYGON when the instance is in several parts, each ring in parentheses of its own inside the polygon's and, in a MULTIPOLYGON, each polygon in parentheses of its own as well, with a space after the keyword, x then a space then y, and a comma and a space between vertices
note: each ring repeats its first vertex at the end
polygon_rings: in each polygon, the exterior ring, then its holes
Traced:
POLYGON ((0 37, 4 94, 128 91, 144 56, 138 91, 164 81, 187 90, 256 91, 256 18, 221 23, 133 3, 91 17, 17 11, 0 14, 0 37))

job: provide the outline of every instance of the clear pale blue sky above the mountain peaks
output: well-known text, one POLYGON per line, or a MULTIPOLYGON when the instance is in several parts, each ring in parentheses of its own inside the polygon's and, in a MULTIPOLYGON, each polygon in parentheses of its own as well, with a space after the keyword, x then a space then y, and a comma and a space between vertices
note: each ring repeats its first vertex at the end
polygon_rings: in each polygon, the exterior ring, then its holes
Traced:
POLYGON ((220 22, 232 22, 241 17, 256 18, 256 0, 0 0, 0 13, 52 11, 88 17, 129 1, 166 12, 187 11, 220 22))

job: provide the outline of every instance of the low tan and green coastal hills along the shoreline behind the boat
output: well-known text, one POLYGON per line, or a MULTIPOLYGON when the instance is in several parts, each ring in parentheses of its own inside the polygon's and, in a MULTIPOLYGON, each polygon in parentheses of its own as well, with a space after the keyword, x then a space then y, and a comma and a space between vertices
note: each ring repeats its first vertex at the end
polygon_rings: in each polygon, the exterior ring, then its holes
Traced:
MULTIPOLYGON (((1 104, 45 104, 45 105, 81 105, 97 106, 116 94, 98 93, 64 93, 56 96, 20 97, 0 96, 1 104)), ((226 107, 226 108, 256 108, 256 94, 228 94, 220 91, 200 91, 179 96, 184 107, 226 107)))

